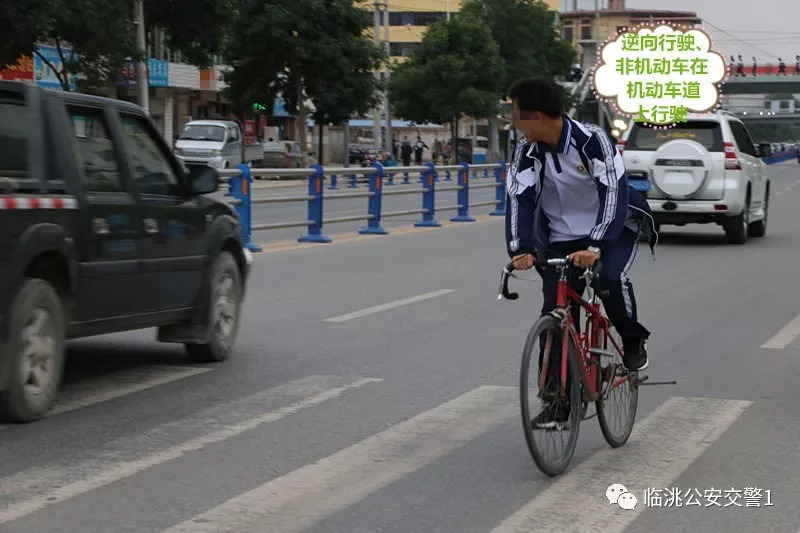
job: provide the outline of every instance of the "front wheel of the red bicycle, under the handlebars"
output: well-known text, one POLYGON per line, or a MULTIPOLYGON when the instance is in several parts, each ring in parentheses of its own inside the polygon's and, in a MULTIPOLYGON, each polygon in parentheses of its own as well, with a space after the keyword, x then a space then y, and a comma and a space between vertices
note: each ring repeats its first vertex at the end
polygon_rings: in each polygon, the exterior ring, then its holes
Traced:
POLYGON ((528 450, 530 450, 536 466, 548 476, 557 476, 566 470, 575 453, 581 421, 581 376, 576 359, 577 347, 570 335, 567 335, 567 366, 570 379, 567 381, 564 395, 558 394, 561 388, 561 340, 564 334, 564 330, 555 317, 543 316, 536 321, 528 333, 522 353, 522 370, 520 372, 522 427, 528 450), (559 377, 556 378, 558 382, 551 381, 547 390, 540 392, 539 356, 543 349, 548 351, 548 367, 557 365, 555 368, 558 371, 555 372, 555 375, 559 377), (531 370, 531 364, 534 365, 533 370, 531 370), (541 407, 541 410, 535 411, 531 404, 541 407), (540 413, 555 414, 559 411, 568 413, 563 417, 565 419, 563 423, 554 421, 553 426, 549 428, 534 427, 532 419, 540 413), (551 449, 555 453, 549 453, 551 449))

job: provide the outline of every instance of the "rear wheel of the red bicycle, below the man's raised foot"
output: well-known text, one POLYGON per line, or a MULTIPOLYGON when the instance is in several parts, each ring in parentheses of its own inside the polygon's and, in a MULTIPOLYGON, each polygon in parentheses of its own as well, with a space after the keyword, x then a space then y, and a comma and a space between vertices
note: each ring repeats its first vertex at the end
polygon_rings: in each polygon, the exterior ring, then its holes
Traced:
MULTIPOLYGON (((622 347, 622 338, 616 329, 609 329, 617 345, 622 347)), ((636 385, 638 372, 628 372, 622 365, 622 356, 605 333, 600 333, 599 347, 614 354, 610 364, 597 373, 597 390, 604 391, 607 383, 611 388, 607 397, 601 396, 595 402, 597 421, 603 438, 612 448, 619 448, 628 441, 636 420, 639 405, 639 387, 636 385)), ((606 360, 608 358, 605 358, 606 360)))

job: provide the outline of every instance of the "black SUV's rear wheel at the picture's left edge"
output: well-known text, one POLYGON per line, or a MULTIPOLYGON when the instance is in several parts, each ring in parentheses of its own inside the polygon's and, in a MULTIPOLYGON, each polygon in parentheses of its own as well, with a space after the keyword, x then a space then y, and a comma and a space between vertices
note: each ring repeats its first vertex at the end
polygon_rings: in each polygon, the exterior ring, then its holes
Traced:
POLYGON ((11 306, 9 381, 0 393, 0 419, 31 422, 55 403, 64 371, 66 319, 55 289, 26 279, 11 306))

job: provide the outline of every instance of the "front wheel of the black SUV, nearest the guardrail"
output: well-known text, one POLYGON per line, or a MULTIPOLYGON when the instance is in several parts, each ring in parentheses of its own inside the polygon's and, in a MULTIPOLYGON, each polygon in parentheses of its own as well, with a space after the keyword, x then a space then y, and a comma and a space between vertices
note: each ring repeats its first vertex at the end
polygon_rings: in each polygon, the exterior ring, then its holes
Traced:
POLYGON ((242 276, 230 252, 221 252, 214 260, 209 284, 210 342, 186 345, 189 356, 201 363, 228 359, 239 329, 242 276))

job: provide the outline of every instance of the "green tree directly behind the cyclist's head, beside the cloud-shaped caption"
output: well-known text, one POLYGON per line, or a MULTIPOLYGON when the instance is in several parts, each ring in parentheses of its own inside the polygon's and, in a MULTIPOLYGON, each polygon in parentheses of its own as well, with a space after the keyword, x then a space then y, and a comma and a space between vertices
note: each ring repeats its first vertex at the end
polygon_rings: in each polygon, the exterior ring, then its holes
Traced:
POLYGON ((525 76, 566 74, 575 62, 555 30, 557 13, 541 0, 467 0, 460 16, 490 29, 506 65, 503 93, 525 76))

